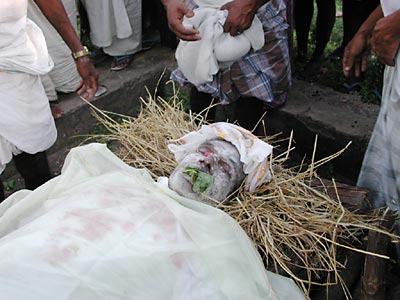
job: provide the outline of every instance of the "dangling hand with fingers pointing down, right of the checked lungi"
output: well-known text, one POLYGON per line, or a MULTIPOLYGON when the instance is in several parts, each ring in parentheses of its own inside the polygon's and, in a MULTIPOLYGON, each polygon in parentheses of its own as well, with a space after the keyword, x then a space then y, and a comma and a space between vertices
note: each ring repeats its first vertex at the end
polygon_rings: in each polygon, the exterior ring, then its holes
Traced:
POLYGON ((347 44, 342 61, 344 76, 349 76, 353 68, 356 77, 359 77, 361 72, 365 72, 369 58, 367 46, 367 38, 361 33, 357 33, 347 44))

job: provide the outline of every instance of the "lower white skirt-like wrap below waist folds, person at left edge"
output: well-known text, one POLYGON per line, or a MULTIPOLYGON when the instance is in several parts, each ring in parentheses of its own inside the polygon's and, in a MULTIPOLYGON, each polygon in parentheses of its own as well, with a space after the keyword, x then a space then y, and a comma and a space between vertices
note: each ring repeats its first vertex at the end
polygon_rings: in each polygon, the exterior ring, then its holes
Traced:
POLYGON ((57 130, 40 77, 0 72, 0 173, 20 151, 50 148, 57 130))

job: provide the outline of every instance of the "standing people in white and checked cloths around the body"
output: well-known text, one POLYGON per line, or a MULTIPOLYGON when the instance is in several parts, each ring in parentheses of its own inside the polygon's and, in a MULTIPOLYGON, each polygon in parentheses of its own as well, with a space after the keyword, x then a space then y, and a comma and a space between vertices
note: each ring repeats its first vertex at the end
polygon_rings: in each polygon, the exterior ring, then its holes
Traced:
POLYGON ((288 100, 293 60, 305 63, 303 74, 310 78, 326 57, 338 57, 344 76, 358 77, 373 51, 386 71, 358 185, 371 189, 376 207, 400 210, 399 1, 343 0, 342 44, 329 54, 325 49, 336 18, 335 0, 317 0, 316 6, 313 0, 154 3, 155 13, 143 11, 140 0, 0 2, 0 174, 13 159, 27 189, 47 182, 46 150, 57 138, 54 118, 62 113, 50 101, 57 100, 57 92, 93 98, 99 86, 96 55, 112 57, 111 71, 134 68, 135 55, 148 48, 143 32, 155 22, 161 40, 177 47, 178 68, 171 77, 191 87, 191 110, 213 122, 213 103, 235 105, 229 121, 249 130, 288 100), (314 8, 315 47, 309 57, 314 8), (78 11, 81 26, 88 27, 91 51, 77 33, 78 11))

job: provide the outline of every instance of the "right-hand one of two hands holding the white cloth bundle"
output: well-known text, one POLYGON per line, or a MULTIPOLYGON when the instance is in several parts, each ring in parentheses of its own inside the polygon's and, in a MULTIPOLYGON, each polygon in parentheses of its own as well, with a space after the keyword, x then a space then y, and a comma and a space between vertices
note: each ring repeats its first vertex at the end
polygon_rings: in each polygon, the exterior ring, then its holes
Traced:
POLYGON ((221 10, 228 10, 224 24, 224 32, 232 36, 248 29, 253 22, 257 10, 269 0, 233 0, 224 4, 221 10))

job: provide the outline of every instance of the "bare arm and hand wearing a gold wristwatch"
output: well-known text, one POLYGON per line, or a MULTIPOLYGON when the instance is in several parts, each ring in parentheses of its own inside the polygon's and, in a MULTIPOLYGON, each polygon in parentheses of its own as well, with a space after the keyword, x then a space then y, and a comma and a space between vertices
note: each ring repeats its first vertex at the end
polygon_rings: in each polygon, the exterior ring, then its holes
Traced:
MULTIPOLYGON (((83 46, 65 12, 61 0, 35 0, 35 2, 71 49, 71 52, 83 50, 83 46)), ((85 99, 90 99, 97 91, 99 75, 89 57, 82 56, 76 59, 75 62, 78 73, 82 77, 77 93, 85 99)))

